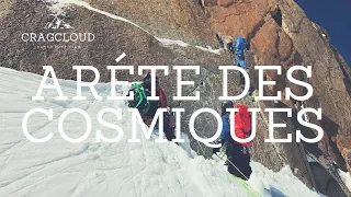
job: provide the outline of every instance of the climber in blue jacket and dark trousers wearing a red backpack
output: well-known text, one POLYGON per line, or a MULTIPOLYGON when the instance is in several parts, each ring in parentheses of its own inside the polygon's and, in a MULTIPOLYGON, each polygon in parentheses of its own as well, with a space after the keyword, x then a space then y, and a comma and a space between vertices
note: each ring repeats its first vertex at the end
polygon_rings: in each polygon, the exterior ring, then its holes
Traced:
MULTIPOLYGON (((228 172, 237 177, 248 181, 252 173, 248 146, 252 142, 239 143, 231 138, 230 113, 226 112, 226 109, 233 107, 234 104, 231 101, 225 102, 222 106, 223 130, 220 135, 220 143, 225 148, 225 152, 227 154, 226 164, 228 165, 228 172)), ((236 108, 238 108, 239 112, 235 114, 235 135, 238 138, 245 139, 249 137, 251 131, 251 115, 246 105, 237 105, 236 108)))

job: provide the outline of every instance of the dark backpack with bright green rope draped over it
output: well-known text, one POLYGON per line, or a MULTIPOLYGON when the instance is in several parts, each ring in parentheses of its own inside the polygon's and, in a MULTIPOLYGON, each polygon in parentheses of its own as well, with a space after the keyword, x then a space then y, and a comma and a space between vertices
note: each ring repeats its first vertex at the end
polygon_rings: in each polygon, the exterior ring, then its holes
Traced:
POLYGON ((150 108, 150 102, 147 100, 144 86, 139 83, 133 83, 129 91, 134 92, 134 100, 128 101, 128 106, 137 108, 140 114, 146 114, 150 108))

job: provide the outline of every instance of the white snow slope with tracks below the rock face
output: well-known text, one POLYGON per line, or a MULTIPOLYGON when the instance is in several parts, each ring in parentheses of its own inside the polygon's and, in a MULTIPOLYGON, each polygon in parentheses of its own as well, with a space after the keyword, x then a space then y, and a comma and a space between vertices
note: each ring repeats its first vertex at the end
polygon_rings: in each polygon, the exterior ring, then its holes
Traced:
MULTIPOLYGON (((129 143, 131 115, 122 120, 105 116, 124 129, 120 142, 95 142, 95 130, 105 137, 115 137, 112 130, 97 121, 101 108, 126 111, 121 101, 94 101, 90 91, 83 90, 87 101, 72 101, 73 81, 60 80, 69 101, 55 101, 56 91, 43 92, 45 101, 32 101, 41 76, 0 68, 0 196, 121 196, 121 197, 225 197, 248 196, 241 182, 229 175, 223 162, 205 160, 184 144, 156 143, 141 137, 140 143, 129 143), (32 136, 39 138, 49 132, 54 137, 45 143, 29 141, 21 128, 24 114, 31 108, 53 108, 54 120, 34 114, 29 121, 32 136), (92 131, 81 143, 69 143, 58 134, 58 116, 68 108, 82 108, 92 119, 92 131), (102 128, 100 128, 102 127, 102 128)), ((110 93, 109 84, 95 85, 100 95, 110 93)), ((125 90, 124 90, 125 91, 125 90)), ((122 93, 122 90, 118 90, 122 93)), ((71 138, 81 137, 84 119, 72 114, 65 120, 65 131, 71 138)), ((157 134, 154 134, 156 138, 157 134)), ((319 196, 301 183, 288 167, 279 173, 252 162, 253 174, 249 187, 262 196, 319 196)))

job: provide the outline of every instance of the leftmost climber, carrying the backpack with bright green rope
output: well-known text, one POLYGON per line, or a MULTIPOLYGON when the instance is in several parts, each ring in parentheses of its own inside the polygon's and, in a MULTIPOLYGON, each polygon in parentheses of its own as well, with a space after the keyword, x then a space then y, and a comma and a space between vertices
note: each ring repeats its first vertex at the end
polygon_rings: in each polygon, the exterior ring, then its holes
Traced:
MULTIPOLYGON (((129 107, 138 108, 144 123, 150 126, 158 108, 168 108, 165 91, 159 86, 158 77, 156 77, 156 95, 159 101, 148 101, 147 96, 151 95, 151 74, 147 73, 143 79, 143 83, 133 84, 129 91, 134 91, 134 100, 128 102, 129 107)), ((166 138, 171 141, 176 138, 174 128, 170 123, 170 113, 163 113, 163 132, 166 138)))

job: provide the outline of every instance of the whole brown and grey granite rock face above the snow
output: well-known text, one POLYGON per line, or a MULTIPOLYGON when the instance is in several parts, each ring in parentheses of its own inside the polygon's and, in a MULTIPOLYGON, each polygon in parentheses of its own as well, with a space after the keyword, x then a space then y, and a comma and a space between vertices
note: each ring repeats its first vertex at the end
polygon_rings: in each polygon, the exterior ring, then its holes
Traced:
MULTIPOLYGON (((201 74, 193 71, 184 72, 183 80, 195 81, 195 86, 184 88, 183 95, 201 92, 200 102, 172 101, 176 94, 176 71, 160 81, 165 88, 172 107, 183 107, 182 130, 186 131, 193 111, 210 107, 219 112, 222 95, 222 72, 217 66, 233 65, 231 54, 226 49, 212 53, 219 47, 216 35, 228 40, 244 36, 249 44, 246 53, 251 84, 258 88, 256 65, 281 65, 282 74, 265 72, 268 80, 274 80, 274 88, 264 89, 267 95, 291 88, 294 94, 304 95, 306 90, 286 80, 286 70, 294 65, 312 66, 313 77, 307 78, 301 72, 294 72, 294 78, 309 82, 314 86, 314 96, 306 102, 282 100, 280 107, 292 107, 293 117, 287 118, 281 113, 274 116, 276 123, 287 123, 287 128, 276 129, 276 138, 285 138, 301 129, 306 136, 314 137, 314 130, 302 127, 296 121, 296 113, 302 107, 322 109, 322 120, 309 116, 312 123, 320 125, 325 130, 324 139, 316 144, 308 143, 265 143, 268 138, 269 117, 267 113, 258 115, 258 132, 251 147, 252 159, 267 167, 279 171, 290 165, 307 186, 327 188, 322 178, 332 178, 336 186, 322 190, 324 194, 335 194, 343 190, 350 195, 335 173, 336 164, 341 169, 351 165, 351 71, 339 53, 329 44, 326 31, 310 22, 304 11, 292 0, 151 0, 151 1, 110 1, 87 0, 82 5, 70 5, 60 20, 73 28, 47 30, 45 24, 52 22, 53 12, 46 1, 0 1, 0 66, 21 71, 43 74, 42 66, 50 65, 61 79, 76 80, 72 66, 94 66, 99 69, 101 81, 110 81, 106 66, 173 66, 200 65, 201 74), (89 4, 88 4, 89 3, 89 4), (89 7, 87 7, 89 5, 89 7), (93 8, 93 9, 92 9, 93 8), (133 22, 121 20, 121 18, 133 22), (23 33, 92 33, 93 42, 23 42, 23 33), (121 54, 126 57, 115 62, 121 54), (306 154, 318 163, 312 165, 306 154), (328 176, 316 176, 322 170, 328 176)), ((171 68, 171 67, 170 67, 171 68)), ((137 68, 136 68, 137 69, 137 68)), ((83 80, 91 81, 92 72, 83 72, 83 80)), ((135 76, 117 72, 118 80, 139 80, 135 76)), ((230 73, 228 88, 230 94, 240 92, 239 76, 230 73)), ((242 101, 250 107, 264 109, 272 102, 254 102, 247 96, 242 101)), ((212 137, 217 123, 204 114, 196 118, 196 132, 202 137, 212 137)), ((293 138, 294 139, 294 138, 293 138)), ((192 148, 199 154, 210 158, 212 150, 199 143, 193 138, 192 148)))

